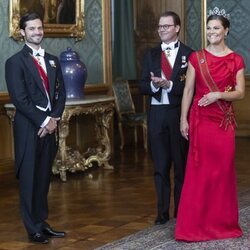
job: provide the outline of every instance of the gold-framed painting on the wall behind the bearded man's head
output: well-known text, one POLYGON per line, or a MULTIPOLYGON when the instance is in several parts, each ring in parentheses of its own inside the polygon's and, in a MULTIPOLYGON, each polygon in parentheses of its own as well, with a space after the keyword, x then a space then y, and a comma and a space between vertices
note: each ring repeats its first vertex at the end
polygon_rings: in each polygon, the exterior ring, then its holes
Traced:
POLYGON ((14 40, 22 39, 19 20, 27 11, 37 12, 44 19, 44 37, 74 37, 81 40, 85 35, 84 0, 10 0, 9 31, 14 40), (71 12, 67 6, 65 19, 60 16, 63 2, 73 4, 71 12))

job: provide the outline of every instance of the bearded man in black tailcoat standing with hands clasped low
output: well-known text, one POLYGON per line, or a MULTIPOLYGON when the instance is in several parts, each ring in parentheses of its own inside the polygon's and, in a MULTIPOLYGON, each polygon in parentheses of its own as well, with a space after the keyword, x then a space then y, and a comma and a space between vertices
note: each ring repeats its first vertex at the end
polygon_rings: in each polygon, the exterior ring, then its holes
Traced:
POLYGON ((43 23, 36 13, 20 20, 25 45, 5 65, 5 78, 16 113, 14 118, 15 166, 20 207, 29 240, 48 243, 64 237, 48 218, 47 195, 57 152, 56 133, 65 106, 65 88, 57 57, 41 48, 43 23))

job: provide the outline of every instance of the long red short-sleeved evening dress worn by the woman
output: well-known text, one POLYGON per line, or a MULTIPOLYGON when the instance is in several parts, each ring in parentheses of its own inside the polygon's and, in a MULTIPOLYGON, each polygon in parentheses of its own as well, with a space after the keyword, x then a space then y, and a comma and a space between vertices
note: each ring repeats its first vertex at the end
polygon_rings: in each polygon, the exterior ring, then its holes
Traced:
MULTIPOLYGON (((245 67, 232 52, 217 57, 204 50, 210 74, 220 91, 230 91, 236 73, 245 67)), ((242 235, 238 223, 235 173, 235 123, 228 123, 217 103, 206 107, 198 101, 209 93, 196 53, 189 58, 195 68, 195 96, 189 115, 189 153, 176 220, 175 238, 206 241, 242 235)), ((224 102, 231 105, 231 102, 224 102)), ((234 120, 235 121, 235 120, 234 120)))

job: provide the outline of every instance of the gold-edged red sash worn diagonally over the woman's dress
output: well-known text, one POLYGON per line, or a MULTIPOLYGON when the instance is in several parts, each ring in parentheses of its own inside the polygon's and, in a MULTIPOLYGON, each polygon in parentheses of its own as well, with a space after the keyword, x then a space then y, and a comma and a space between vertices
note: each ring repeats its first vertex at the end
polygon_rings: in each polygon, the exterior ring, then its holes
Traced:
MULTIPOLYGON (((204 50, 197 51, 196 56, 198 59, 198 64, 200 67, 201 75, 203 77, 205 84, 209 88, 209 90, 211 92, 220 92, 218 86, 214 82, 214 80, 209 72, 207 61, 206 61, 206 56, 204 54, 204 50)), ((235 120, 235 115, 234 115, 232 103, 229 103, 229 102, 226 102, 223 100, 218 100, 218 101, 216 101, 216 103, 224 114, 224 117, 221 121, 220 127, 224 126, 225 130, 227 130, 228 125, 231 125, 232 127, 236 127, 237 124, 236 124, 236 120, 235 120)))

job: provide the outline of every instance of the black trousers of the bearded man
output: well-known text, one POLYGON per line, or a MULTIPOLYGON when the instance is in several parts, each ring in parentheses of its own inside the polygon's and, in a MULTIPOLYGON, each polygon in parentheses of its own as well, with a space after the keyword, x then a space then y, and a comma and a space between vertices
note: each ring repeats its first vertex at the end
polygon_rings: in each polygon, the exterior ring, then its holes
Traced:
POLYGON ((38 138, 36 148, 27 147, 19 171, 20 208, 28 234, 40 232, 48 224, 48 191, 55 156, 55 135, 38 138))

